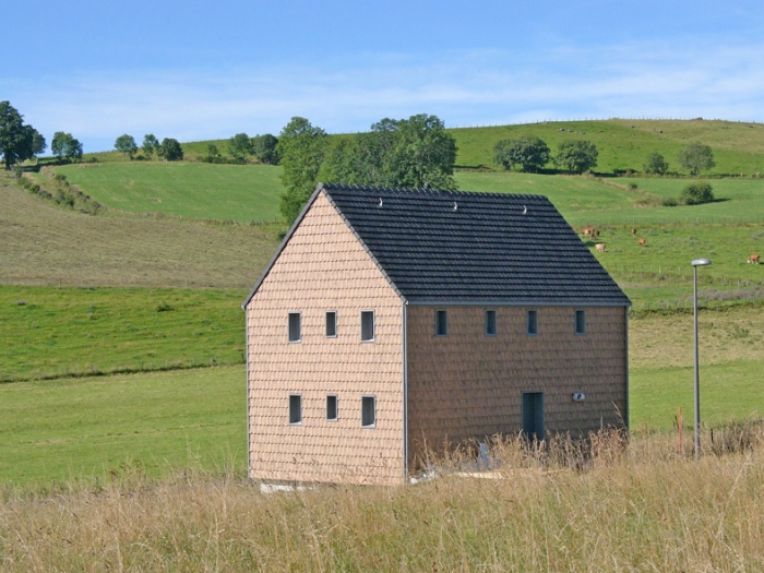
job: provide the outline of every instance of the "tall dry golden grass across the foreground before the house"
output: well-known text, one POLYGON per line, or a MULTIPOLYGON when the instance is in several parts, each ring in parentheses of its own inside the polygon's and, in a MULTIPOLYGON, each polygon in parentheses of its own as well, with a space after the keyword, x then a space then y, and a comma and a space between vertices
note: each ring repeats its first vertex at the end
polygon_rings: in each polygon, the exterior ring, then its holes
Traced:
POLYGON ((662 434, 497 439, 490 471, 463 450, 397 488, 263 494, 225 471, 126 471, 5 489, 0 571, 761 571, 764 427, 720 440, 695 463, 662 434))

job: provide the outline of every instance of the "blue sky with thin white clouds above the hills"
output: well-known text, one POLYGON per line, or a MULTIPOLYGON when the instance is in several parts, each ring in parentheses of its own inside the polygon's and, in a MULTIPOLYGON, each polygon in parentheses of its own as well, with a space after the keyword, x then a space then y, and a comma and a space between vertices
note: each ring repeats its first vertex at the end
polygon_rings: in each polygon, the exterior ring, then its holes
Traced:
POLYGON ((50 142, 330 133, 433 114, 764 121, 764 4, 37 1, 3 19, 8 99, 50 142))

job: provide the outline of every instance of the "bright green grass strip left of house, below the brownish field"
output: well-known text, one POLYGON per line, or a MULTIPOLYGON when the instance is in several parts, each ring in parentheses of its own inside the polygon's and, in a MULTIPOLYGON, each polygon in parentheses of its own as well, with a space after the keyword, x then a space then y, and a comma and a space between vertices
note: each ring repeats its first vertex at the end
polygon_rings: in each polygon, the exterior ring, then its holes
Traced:
POLYGON ((242 363, 246 295, 0 286, 0 382, 242 363))

